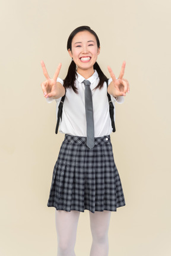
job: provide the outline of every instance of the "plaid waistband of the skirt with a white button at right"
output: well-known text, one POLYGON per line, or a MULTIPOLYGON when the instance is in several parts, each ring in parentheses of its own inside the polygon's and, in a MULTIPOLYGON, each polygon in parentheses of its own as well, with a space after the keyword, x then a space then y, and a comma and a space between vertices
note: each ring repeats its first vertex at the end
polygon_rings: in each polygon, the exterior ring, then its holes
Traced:
MULTIPOLYGON (((87 137, 65 134, 65 142, 84 145, 87 143, 87 137)), ((110 142, 110 135, 94 138, 94 146, 99 144, 109 143, 109 142, 110 142)))

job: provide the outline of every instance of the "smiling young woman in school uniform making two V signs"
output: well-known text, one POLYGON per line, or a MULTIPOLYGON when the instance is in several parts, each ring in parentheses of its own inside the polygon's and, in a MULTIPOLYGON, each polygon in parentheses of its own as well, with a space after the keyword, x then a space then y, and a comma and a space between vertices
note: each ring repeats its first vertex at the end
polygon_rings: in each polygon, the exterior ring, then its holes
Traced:
POLYGON ((46 77, 41 85, 45 98, 55 99, 58 109, 61 97, 65 94, 59 125, 59 131, 65 134, 65 140, 53 170, 47 206, 56 208, 58 256, 75 255, 77 223, 80 211, 84 210, 90 213, 93 236, 90 255, 106 256, 111 211, 125 206, 110 143, 112 125, 107 91, 113 103, 122 103, 123 96, 129 92, 129 83, 123 78, 124 62, 118 79, 108 67, 111 78, 107 88, 107 78, 96 62, 100 53, 99 38, 90 27, 81 26, 72 31, 67 49, 72 61, 64 81, 58 78, 61 64, 53 78, 50 78, 44 62, 41 62, 46 77), (90 107, 92 103, 85 103, 87 89, 84 80, 90 82, 92 95, 94 128, 91 130, 93 136, 90 143, 93 141, 93 146, 87 143, 90 127, 87 125, 89 123, 85 105, 90 107))

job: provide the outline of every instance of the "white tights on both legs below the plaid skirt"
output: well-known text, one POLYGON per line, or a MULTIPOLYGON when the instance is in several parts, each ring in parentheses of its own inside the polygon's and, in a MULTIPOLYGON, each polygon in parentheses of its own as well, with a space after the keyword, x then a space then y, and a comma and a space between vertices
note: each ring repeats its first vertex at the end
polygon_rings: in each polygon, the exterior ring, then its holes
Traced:
MULTIPOLYGON (((93 236, 90 256, 107 256, 109 251, 108 229, 110 211, 90 213, 90 227, 93 236)), ((74 247, 80 211, 55 210, 56 232, 58 238, 57 256, 75 256, 74 247)))

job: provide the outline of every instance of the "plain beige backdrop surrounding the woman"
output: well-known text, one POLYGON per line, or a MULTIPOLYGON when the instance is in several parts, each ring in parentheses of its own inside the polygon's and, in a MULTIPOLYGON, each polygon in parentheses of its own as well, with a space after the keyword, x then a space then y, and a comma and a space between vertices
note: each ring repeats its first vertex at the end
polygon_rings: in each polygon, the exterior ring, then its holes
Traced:
MULTIPOLYGON (((90 26, 100 38, 99 65, 110 65, 131 92, 116 106, 113 152, 126 206, 112 213, 109 256, 169 256, 170 1, 1 1, 2 256, 56 255, 55 208, 46 206, 63 135, 55 135, 55 103, 43 99, 40 60, 50 75, 71 61, 66 40, 90 26)), ((81 213, 76 255, 91 246, 81 213)))

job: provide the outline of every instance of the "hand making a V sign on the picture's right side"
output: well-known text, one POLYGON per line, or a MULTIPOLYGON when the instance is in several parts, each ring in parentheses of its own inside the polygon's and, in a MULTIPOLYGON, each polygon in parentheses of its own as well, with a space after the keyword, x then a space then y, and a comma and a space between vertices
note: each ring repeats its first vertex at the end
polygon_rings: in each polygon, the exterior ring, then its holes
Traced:
POLYGON ((110 73, 110 77, 112 78, 112 82, 109 84, 107 91, 113 97, 126 96, 126 93, 129 93, 128 80, 123 78, 125 65, 126 62, 124 61, 118 79, 116 79, 115 75, 113 74, 112 68, 109 66, 107 67, 110 73))

